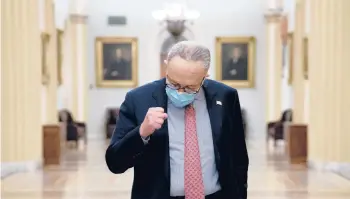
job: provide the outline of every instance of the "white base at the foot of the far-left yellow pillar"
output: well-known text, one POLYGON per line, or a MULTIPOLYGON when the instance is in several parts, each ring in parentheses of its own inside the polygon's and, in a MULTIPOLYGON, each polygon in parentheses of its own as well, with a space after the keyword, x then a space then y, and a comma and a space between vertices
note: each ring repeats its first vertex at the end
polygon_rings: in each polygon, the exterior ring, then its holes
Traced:
POLYGON ((42 161, 2 162, 1 179, 22 172, 33 172, 42 168, 42 161))

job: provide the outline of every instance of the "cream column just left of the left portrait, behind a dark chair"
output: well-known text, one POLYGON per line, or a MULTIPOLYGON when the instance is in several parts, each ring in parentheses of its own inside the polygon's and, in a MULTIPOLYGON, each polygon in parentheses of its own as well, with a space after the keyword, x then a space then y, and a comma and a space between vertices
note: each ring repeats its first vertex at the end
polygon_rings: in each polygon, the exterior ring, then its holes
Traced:
MULTIPOLYGON (((67 99, 68 109, 78 121, 87 120, 87 51, 86 51, 86 23, 87 16, 83 14, 71 14, 67 22, 69 65, 67 72, 67 99)), ((66 56, 66 54, 64 55, 66 56)))

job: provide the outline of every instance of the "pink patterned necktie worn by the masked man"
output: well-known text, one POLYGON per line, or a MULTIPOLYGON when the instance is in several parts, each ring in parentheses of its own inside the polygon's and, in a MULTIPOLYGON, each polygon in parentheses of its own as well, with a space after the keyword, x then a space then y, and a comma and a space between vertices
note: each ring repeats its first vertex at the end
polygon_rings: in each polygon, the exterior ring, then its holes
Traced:
POLYGON ((185 109, 185 198, 205 198, 196 130, 196 112, 192 105, 185 109))

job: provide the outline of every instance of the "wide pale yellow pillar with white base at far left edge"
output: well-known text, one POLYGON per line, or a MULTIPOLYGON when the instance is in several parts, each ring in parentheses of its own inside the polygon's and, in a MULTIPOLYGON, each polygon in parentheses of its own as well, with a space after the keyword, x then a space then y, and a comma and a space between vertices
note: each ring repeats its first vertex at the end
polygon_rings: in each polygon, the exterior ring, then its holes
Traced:
POLYGON ((1 7, 3 177, 41 166, 42 129, 38 1, 4 0, 1 7))

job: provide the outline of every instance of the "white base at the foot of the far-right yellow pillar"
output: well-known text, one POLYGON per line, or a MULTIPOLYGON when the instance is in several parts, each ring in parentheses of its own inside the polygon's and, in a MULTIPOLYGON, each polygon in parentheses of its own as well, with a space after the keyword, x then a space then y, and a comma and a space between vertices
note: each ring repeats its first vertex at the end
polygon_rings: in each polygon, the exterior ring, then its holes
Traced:
POLYGON ((317 171, 332 171, 350 180, 350 163, 308 161, 308 166, 317 171))

